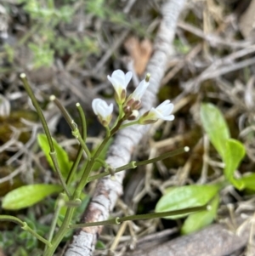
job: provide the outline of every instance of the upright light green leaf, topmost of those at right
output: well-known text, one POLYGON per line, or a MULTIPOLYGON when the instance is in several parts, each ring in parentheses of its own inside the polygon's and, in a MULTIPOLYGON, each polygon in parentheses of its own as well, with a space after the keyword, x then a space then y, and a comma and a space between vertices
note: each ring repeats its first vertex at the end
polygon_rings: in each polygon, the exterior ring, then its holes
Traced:
POLYGON ((225 143, 230 138, 229 128, 224 120, 224 116, 218 107, 212 104, 201 105, 201 123, 205 129, 212 145, 218 154, 224 158, 225 143))

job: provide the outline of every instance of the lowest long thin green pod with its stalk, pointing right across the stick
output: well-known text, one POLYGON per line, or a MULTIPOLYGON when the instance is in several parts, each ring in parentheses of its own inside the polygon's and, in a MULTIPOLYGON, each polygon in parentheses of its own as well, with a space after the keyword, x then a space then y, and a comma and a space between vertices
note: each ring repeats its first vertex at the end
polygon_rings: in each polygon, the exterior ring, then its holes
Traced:
POLYGON ((173 215, 185 214, 185 213, 194 213, 199 211, 207 210, 207 205, 194 207, 194 208, 185 208, 180 210, 168 211, 163 213, 147 213, 147 214, 139 214, 139 215, 132 215, 132 216, 125 216, 122 218, 115 218, 115 219, 108 219, 104 221, 98 221, 93 223, 83 223, 83 224, 76 224, 76 225, 69 225, 70 229, 79 229, 88 226, 97 226, 97 225, 114 225, 114 224, 121 224, 123 221, 127 220, 139 220, 139 219, 156 219, 156 218, 164 218, 173 215))

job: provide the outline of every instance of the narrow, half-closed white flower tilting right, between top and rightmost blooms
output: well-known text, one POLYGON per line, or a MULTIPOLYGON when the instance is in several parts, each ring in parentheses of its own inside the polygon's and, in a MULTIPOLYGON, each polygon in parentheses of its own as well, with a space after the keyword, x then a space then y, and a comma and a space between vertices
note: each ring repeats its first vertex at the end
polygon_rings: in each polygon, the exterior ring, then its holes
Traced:
POLYGON ((130 94, 127 98, 126 107, 129 107, 130 110, 138 110, 141 106, 141 98, 143 97, 146 89, 148 88, 150 82, 145 79, 139 83, 139 86, 135 88, 133 94, 130 94))

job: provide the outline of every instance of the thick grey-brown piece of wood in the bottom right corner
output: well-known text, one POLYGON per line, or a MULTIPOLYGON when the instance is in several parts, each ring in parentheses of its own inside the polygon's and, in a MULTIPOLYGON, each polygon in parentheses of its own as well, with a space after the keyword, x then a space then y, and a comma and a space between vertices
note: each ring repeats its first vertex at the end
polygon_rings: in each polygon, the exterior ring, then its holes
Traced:
MULTIPOLYGON (((238 225, 243 220, 238 219, 238 225)), ((189 236, 179 236, 172 241, 159 245, 136 250, 133 253, 126 253, 125 256, 224 256, 246 246, 249 239, 251 226, 235 234, 235 231, 227 230, 226 225, 210 225, 189 236)))

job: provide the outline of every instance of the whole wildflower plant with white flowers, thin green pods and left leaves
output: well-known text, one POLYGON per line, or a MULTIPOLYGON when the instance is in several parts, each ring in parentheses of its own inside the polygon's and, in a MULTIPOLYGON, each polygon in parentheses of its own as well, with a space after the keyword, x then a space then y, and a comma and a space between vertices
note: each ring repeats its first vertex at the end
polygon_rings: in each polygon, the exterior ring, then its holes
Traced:
MULTIPOLYGON (((16 218, 11 215, 0 215, 0 220, 3 221, 12 221, 21 226, 23 230, 26 230, 31 233, 32 236, 37 237, 38 240, 45 244, 45 249, 42 255, 51 256, 54 254, 56 248, 59 246, 59 243, 63 238, 70 232, 71 229, 85 227, 88 224, 78 224, 76 223, 77 218, 77 209, 81 211, 82 201, 86 195, 83 193, 83 189, 88 182, 95 179, 103 178, 107 175, 114 175, 117 172, 126 170, 128 168, 136 168, 139 165, 145 165, 151 162, 156 162, 162 159, 165 159, 170 156, 175 156, 189 149, 185 147, 184 149, 179 149, 177 151, 167 152, 156 158, 149 159, 143 162, 129 162, 126 165, 119 168, 112 168, 104 159, 102 159, 102 152, 105 151, 105 148, 109 145, 111 138, 116 132, 122 128, 138 124, 146 125, 153 122, 156 122, 159 119, 166 121, 173 121, 174 116, 173 112, 173 103, 170 100, 165 100, 161 105, 158 105, 156 108, 151 108, 150 111, 145 112, 144 114, 139 113, 139 109, 142 106, 142 97, 144 92, 149 87, 150 84, 150 75, 148 74, 143 81, 139 83, 139 86, 135 88, 132 94, 127 95, 127 85, 132 79, 132 72, 127 72, 126 74, 117 70, 112 73, 111 76, 108 76, 108 80, 111 82, 115 90, 115 100, 116 105, 118 106, 118 117, 115 121, 112 120, 112 113, 114 110, 114 105, 110 105, 105 102, 105 100, 94 99, 92 102, 92 108, 94 114, 98 117, 99 122, 105 127, 105 139, 99 145, 96 151, 93 153, 88 150, 86 144, 87 139, 87 124, 85 114, 82 111, 82 107, 77 103, 77 111, 79 112, 81 120, 81 133, 78 129, 77 123, 73 121, 69 113, 65 110, 63 105, 56 99, 54 95, 50 97, 50 100, 54 101, 55 105, 59 107, 59 110, 62 112, 65 117, 66 122, 68 122, 73 136, 77 139, 79 143, 79 150, 77 151, 77 157, 74 162, 69 161, 68 155, 66 152, 58 145, 58 143, 51 137, 51 134, 48 130, 47 122, 42 115, 42 111, 37 103, 37 100, 34 94, 31 91, 31 87, 27 82, 26 75, 21 74, 20 78, 26 88, 27 94, 29 94, 33 105, 35 106, 38 116, 42 122, 42 127, 44 129, 45 135, 40 134, 38 136, 38 143, 41 146, 44 153, 47 155, 47 160, 49 165, 54 169, 56 174, 59 177, 59 185, 46 185, 46 184, 37 184, 37 185, 24 185, 20 188, 10 191, 3 198, 3 208, 7 210, 19 210, 20 208, 28 208, 34 205, 37 202, 42 201, 43 198, 49 196, 53 193, 58 193, 59 196, 55 203, 54 218, 52 224, 48 231, 47 238, 42 237, 31 226, 27 225, 26 221, 22 221, 19 218, 16 218), (48 154, 47 154, 48 152, 48 154), (85 164, 80 168, 80 162, 82 159, 82 153, 85 152, 87 160, 85 164), (101 174, 93 175, 91 172, 94 170, 94 166, 100 162, 105 168, 105 171, 101 174), (80 168, 80 169, 78 169, 80 168), (77 178, 77 170, 79 176, 77 178), (57 228, 57 226, 59 228, 57 228)), ((213 191, 213 189, 212 189, 213 191)), ((88 201, 88 198, 87 198, 88 201)), ((206 204, 207 202, 205 202, 206 204)), ((100 224, 94 223, 89 225, 109 225, 109 224, 119 224, 122 221, 126 220, 135 220, 135 219, 151 219, 151 218, 161 218, 169 215, 176 214, 186 214, 198 210, 205 210, 207 205, 195 206, 192 208, 185 209, 179 208, 178 210, 165 211, 163 213, 148 213, 147 215, 143 214, 142 216, 133 215, 126 216, 124 219, 116 218, 109 219, 100 224)))

